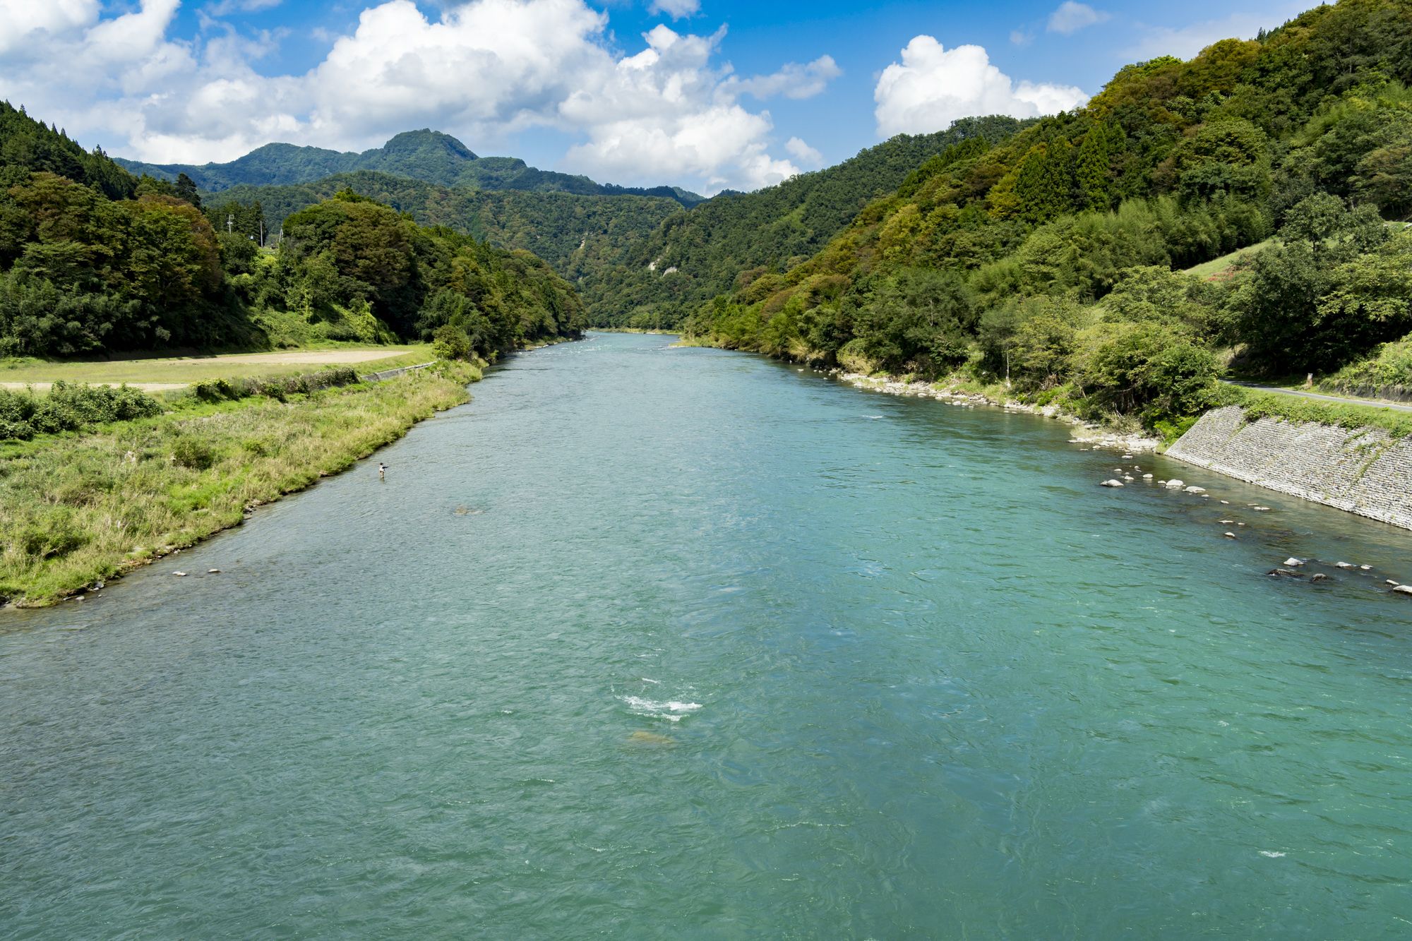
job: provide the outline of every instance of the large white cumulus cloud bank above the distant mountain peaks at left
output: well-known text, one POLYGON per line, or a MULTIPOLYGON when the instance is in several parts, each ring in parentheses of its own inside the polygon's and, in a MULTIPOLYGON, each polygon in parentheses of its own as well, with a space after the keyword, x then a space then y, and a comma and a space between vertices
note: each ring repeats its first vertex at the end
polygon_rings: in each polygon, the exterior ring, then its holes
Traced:
POLYGON ((270 75, 257 66, 280 34, 246 35, 208 17, 196 37, 174 38, 176 7, 141 0, 110 14, 97 0, 0 0, 0 97, 85 143, 155 162, 232 160, 270 141, 360 150, 412 127, 484 150, 539 127, 573 141, 565 170, 714 191, 799 171, 796 148, 772 153, 770 112, 744 96, 808 97, 839 75, 825 55, 736 76, 719 61, 724 27, 690 35, 658 25, 623 52, 587 0, 469 0, 439 14, 384 0, 328 35, 328 55, 308 72, 270 75))

